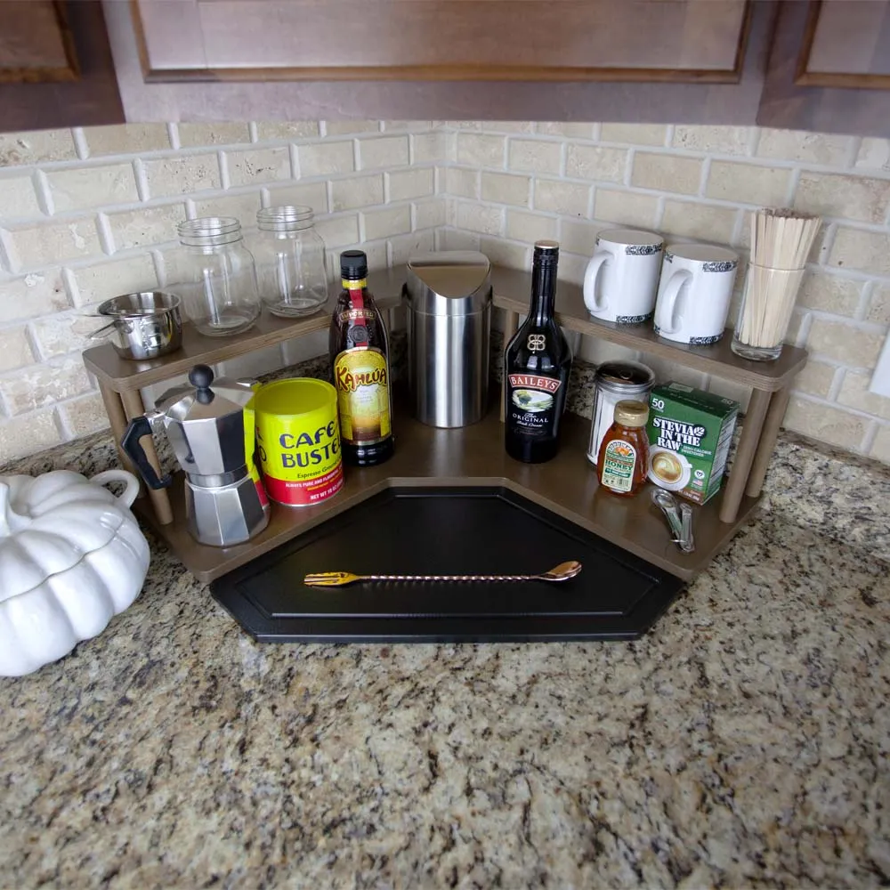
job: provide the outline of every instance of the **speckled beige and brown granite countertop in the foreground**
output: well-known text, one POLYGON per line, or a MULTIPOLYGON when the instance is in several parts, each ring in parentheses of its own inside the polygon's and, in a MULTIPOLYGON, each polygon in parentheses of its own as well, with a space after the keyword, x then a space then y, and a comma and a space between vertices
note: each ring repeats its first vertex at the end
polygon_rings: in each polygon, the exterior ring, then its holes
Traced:
POLYGON ((0 886, 878 886, 888 564, 765 514, 635 643, 258 645, 156 544, 0 679, 0 886))

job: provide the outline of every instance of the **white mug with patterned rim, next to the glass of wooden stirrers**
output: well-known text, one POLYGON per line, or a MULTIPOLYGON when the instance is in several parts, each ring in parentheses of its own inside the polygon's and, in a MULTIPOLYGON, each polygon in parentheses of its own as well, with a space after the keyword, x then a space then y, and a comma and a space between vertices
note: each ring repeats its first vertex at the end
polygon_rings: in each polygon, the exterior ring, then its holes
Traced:
POLYGON ((724 335, 739 255, 708 244, 665 249, 655 333, 675 343, 703 346, 724 335))

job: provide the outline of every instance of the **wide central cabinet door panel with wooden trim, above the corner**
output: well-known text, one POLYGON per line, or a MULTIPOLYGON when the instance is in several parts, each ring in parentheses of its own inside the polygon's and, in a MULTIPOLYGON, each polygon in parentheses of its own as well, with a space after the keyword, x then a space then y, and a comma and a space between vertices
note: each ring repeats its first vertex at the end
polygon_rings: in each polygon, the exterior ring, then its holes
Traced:
POLYGON ((152 82, 733 82, 747 7, 746 0, 138 0, 137 12, 152 82))

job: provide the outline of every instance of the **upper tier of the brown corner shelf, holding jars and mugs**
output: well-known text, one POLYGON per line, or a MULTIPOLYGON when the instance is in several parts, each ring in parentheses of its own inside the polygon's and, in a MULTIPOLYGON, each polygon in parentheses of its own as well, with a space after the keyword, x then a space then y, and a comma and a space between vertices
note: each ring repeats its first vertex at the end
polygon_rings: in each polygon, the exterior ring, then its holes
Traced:
MULTIPOLYGON (((405 281, 405 267, 372 272, 368 287, 382 310, 392 309, 401 302, 401 287, 405 281)), ((531 273, 494 266, 492 270, 494 304, 508 312, 528 312, 531 293, 531 273)), ((246 352, 283 343, 294 337, 327 330, 334 298, 328 301, 323 312, 296 321, 277 319, 263 312, 255 326, 237 336, 202 336, 186 324, 182 330, 182 349, 153 361, 128 361, 120 359, 110 344, 95 346, 84 352, 86 368, 116 392, 139 389, 182 374, 197 364, 214 364, 234 359, 246 352)), ((753 386, 766 392, 782 389, 804 367, 806 350, 786 346, 775 361, 748 361, 740 359, 732 349, 732 330, 726 329, 724 338, 711 346, 687 346, 663 340, 650 325, 615 325, 590 317, 584 305, 581 288, 567 281, 560 281, 556 291, 556 316, 563 328, 588 336, 599 337, 630 349, 648 352, 650 355, 706 374, 723 377, 739 384, 753 386)))

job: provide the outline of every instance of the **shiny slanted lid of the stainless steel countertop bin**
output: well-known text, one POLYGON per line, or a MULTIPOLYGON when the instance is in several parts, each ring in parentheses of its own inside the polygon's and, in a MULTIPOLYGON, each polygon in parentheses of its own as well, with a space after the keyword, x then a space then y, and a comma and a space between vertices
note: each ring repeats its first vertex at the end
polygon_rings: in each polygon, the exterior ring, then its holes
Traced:
POLYGON ((405 293, 411 312, 473 315, 491 303, 491 263, 475 250, 438 250, 408 261, 405 293))

